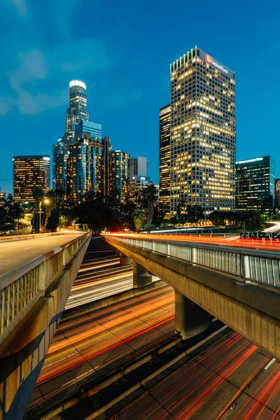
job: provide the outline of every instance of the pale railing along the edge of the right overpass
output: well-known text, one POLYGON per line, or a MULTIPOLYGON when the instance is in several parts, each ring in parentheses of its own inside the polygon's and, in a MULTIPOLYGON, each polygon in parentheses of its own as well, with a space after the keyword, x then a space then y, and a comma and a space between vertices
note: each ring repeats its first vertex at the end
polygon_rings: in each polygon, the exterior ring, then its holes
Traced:
POLYGON ((111 238, 161 253, 167 257, 178 258, 193 265, 231 274, 245 283, 265 283, 268 286, 280 288, 280 253, 241 250, 231 246, 180 242, 172 241, 172 239, 151 241, 151 239, 136 239, 121 235, 113 235, 111 238))

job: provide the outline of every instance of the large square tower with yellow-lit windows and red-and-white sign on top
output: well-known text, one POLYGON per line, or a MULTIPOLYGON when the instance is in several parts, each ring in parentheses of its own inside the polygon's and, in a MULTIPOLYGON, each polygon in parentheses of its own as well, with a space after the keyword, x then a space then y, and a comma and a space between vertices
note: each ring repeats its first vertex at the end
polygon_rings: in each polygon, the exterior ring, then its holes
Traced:
POLYGON ((170 65, 170 209, 235 209, 235 72, 195 46, 170 65))

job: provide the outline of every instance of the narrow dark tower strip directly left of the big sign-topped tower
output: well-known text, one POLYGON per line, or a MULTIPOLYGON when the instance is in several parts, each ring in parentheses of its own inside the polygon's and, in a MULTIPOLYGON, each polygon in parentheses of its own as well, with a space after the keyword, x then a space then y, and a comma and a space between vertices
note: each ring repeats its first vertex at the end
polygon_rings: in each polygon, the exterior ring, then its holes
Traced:
POLYGON ((170 212, 170 104, 160 109, 160 205, 170 212))

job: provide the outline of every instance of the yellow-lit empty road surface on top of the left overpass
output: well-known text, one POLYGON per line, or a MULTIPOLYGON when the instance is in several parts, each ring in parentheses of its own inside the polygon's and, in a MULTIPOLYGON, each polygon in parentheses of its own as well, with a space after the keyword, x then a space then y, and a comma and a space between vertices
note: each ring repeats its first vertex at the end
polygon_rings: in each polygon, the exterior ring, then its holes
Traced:
POLYGON ((34 258, 48 253, 57 246, 84 235, 84 232, 69 232, 63 235, 22 239, 19 241, 0 242, 0 276, 15 267, 20 267, 34 258))

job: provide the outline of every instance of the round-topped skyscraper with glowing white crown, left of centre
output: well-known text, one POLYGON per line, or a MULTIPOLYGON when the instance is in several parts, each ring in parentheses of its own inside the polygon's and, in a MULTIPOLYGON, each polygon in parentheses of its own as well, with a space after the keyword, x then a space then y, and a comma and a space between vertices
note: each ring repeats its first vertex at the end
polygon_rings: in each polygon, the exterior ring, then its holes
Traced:
POLYGON ((80 120, 89 120, 85 83, 80 80, 72 80, 69 86, 69 108, 66 111, 66 127, 64 134, 64 143, 67 151, 69 151, 70 145, 73 144, 76 124, 78 124, 80 120))

